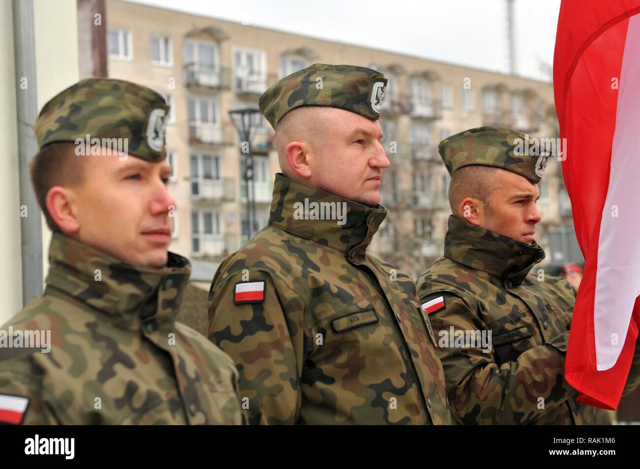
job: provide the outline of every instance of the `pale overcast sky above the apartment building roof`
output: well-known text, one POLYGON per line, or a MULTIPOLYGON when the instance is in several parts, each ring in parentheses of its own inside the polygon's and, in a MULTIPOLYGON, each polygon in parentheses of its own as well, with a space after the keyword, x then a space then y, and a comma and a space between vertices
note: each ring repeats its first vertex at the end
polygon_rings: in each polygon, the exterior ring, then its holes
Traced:
MULTIPOLYGON (((508 72, 506 0, 127 0, 508 72)), ((515 0, 516 73, 550 80, 560 0, 515 0)))

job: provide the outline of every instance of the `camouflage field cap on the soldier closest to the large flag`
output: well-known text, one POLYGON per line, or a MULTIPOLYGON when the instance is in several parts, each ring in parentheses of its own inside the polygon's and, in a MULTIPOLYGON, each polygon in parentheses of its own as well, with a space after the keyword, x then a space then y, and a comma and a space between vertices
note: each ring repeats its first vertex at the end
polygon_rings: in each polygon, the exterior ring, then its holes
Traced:
POLYGON ((445 138, 438 152, 453 175, 465 166, 494 166, 512 171, 538 184, 550 155, 531 155, 525 151, 529 138, 503 127, 477 127, 445 138))

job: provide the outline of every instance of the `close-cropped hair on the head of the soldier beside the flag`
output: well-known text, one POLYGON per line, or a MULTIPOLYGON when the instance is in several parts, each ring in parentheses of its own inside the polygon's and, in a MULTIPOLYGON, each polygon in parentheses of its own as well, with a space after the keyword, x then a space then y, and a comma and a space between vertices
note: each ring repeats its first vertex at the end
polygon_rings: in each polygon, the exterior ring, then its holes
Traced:
POLYGON ((467 197, 480 200, 486 209, 490 209, 490 193, 497 171, 500 169, 476 164, 465 166, 453 173, 449 185, 451 213, 458 218, 463 218, 461 204, 467 197))

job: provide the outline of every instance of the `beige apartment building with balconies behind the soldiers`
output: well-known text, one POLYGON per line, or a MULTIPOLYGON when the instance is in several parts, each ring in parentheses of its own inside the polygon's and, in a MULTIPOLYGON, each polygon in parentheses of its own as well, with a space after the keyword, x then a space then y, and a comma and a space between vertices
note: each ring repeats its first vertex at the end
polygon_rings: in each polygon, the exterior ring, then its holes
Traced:
MULTIPOLYGON (((166 142, 177 211, 170 249, 193 260, 202 282, 249 233, 246 158, 229 111, 257 107, 271 84, 311 63, 362 65, 388 78, 380 124, 392 163, 381 202, 389 215, 371 251, 416 276, 442 255, 451 212, 440 140, 479 125, 557 136, 550 83, 119 0, 106 1, 106 35, 108 76, 149 86, 172 106, 166 142)), ((278 159, 269 124, 262 117, 252 124, 260 228, 278 159)), ((550 250, 572 231, 563 191, 552 158, 540 186, 538 228, 550 266, 570 260, 550 250)))

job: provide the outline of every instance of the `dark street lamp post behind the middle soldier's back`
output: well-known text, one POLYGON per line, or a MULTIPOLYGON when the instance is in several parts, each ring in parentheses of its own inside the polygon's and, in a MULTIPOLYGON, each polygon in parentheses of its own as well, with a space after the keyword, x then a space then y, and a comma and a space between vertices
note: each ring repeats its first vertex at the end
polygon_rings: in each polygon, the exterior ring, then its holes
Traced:
POLYGON ((244 107, 229 111, 231 120, 236 125, 240 138, 240 157, 245 158, 244 186, 246 187, 246 223, 249 239, 257 233, 255 219, 255 185, 253 183, 253 151, 251 148, 251 133, 257 127, 260 120, 260 109, 257 107, 244 107))

